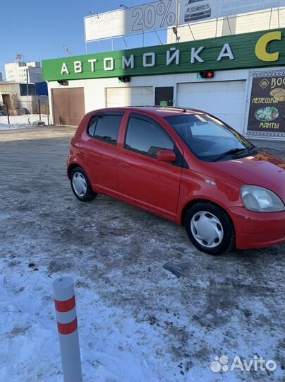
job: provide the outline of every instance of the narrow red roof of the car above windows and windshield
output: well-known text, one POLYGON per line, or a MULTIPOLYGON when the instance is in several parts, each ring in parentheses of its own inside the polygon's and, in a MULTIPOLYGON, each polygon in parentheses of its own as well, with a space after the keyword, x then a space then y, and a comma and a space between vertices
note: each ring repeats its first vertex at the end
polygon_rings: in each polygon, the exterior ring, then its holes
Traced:
POLYGON ((104 108, 97 111, 109 111, 109 110, 130 110, 138 112, 147 112, 151 115, 157 115, 159 117, 173 117, 174 115, 193 115, 197 113, 204 114, 202 110, 188 109, 188 108, 179 108, 178 106, 127 106, 127 107, 118 107, 118 108, 104 108))

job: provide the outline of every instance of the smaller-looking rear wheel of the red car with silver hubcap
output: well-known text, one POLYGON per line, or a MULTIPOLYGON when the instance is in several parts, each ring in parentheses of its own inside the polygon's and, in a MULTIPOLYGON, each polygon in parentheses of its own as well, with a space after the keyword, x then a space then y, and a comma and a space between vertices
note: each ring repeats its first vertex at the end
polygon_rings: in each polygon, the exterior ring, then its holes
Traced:
POLYGON ((75 167, 71 172, 71 189, 80 202, 90 202, 97 196, 92 190, 85 170, 81 167, 75 167))

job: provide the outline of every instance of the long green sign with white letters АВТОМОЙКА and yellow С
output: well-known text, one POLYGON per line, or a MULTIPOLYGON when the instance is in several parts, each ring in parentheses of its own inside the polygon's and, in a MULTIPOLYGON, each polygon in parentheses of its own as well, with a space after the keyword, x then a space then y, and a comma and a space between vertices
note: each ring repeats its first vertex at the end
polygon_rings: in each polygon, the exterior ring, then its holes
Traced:
POLYGON ((179 74, 285 65, 285 28, 117 52, 49 59, 45 81, 179 74))

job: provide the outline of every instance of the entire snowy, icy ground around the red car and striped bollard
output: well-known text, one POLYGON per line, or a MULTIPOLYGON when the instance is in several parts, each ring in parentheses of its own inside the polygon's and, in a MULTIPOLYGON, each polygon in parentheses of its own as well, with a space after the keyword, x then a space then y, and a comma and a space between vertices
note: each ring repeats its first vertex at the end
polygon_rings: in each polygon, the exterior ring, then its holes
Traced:
POLYGON ((63 381, 62 275, 75 281, 84 382, 284 381, 285 245, 211 257, 157 216, 102 195, 81 203, 70 133, 48 130, 66 138, 0 134, 0 382, 63 381), (277 370, 210 371, 236 354, 277 370))

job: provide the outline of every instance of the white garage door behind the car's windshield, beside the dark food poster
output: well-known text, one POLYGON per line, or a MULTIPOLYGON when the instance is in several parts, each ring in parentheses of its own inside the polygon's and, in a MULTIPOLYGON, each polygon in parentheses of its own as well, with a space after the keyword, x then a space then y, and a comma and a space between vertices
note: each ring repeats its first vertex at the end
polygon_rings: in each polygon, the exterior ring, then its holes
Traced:
POLYGON ((243 132, 245 81, 179 83, 177 105, 216 115, 243 132))

